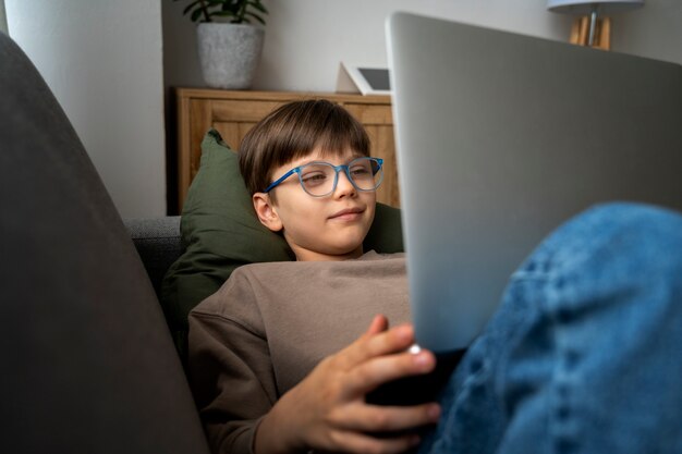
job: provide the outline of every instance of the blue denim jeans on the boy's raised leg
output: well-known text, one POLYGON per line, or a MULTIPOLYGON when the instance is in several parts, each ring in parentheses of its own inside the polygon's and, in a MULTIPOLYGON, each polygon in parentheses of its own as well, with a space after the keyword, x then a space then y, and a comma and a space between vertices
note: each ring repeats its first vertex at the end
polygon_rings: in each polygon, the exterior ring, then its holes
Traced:
POLYGON ((595 207, 515 272, 419 453, 682 453, 682 216, 595 207))

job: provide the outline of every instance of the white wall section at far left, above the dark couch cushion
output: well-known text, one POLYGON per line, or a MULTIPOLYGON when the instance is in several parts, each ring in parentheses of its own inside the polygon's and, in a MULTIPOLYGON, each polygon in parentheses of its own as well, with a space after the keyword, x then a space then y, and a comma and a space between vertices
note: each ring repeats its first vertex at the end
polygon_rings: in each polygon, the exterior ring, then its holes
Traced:
POLYGON ((160 1, 4 0, 124 218, 166 213, 160 1))

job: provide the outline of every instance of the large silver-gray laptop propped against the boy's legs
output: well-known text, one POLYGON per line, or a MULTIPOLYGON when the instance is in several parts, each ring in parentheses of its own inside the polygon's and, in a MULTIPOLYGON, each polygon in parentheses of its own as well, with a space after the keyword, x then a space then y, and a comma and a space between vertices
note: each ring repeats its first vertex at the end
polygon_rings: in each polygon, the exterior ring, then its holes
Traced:
POLYGON ((387 21, 417 343, 465 348, 589 206, 682 210, 682 66, 409 13, 387 21))

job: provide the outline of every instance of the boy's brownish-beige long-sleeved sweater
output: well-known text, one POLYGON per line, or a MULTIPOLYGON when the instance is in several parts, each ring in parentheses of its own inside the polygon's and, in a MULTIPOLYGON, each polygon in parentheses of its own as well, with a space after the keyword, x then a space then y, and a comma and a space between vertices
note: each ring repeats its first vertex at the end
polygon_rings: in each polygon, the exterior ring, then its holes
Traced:
POLYGON ((377 314, 407 321, 402 254, 239 268, 190 314, 190 377, 215 453, 249 453, 275 402, 377 314))

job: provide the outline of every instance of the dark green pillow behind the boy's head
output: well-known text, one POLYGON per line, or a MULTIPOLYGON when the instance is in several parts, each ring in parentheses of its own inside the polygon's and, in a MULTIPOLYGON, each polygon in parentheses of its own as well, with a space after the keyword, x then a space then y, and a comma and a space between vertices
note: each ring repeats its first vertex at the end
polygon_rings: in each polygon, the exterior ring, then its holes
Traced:
MULTIPOLYGON (((163 278, 161 305, 184 357, 190 310, 217 292, 235 268, 295 257, 284 238, 256 218, 236 154, 215 130, 202 142, 202 162, 182 209, 180 230, 185 251, 163 278)), ((403 250, 399 209, 377 204, 364 248, 387 254, 403 250)))

